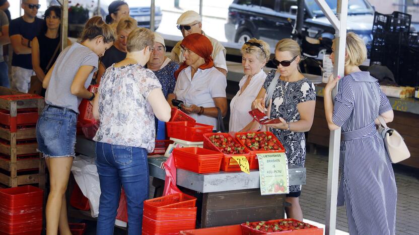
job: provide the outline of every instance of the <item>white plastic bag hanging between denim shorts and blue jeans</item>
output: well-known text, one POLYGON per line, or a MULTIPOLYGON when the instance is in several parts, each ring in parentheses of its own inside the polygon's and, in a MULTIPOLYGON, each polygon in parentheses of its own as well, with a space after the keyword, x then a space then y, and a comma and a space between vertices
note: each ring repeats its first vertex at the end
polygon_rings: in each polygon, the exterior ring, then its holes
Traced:
POLYGON ((85 155, 76 156, 72 172, 83 195, 89 199, 92 217, 97 217, 99 215, 100 184, 95 158, 85 155))

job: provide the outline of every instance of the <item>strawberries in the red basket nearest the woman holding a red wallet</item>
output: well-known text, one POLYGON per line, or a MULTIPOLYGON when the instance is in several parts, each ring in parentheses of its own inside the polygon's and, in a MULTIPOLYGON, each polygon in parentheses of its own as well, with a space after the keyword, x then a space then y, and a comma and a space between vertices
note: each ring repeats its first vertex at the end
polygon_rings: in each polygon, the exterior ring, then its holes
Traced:
POLYGON ((266 132, 246 133, 237 136, 242 143, 252 151, 256 150, 281 150, 281 144, 272 135, 266 132))

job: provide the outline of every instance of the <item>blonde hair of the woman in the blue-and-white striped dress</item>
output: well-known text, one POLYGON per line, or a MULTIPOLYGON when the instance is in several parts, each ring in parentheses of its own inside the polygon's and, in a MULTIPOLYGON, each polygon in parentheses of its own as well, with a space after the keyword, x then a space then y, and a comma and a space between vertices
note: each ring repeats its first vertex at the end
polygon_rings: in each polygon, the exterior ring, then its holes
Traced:
MULTIPOLYGON (((333 43, 335 43, 335 40, 333 40, 333 43)), ((360 66, 367 59, 367 47, 364 40, 354 32, 346 34, 346 53, 345 66, 360 66)))

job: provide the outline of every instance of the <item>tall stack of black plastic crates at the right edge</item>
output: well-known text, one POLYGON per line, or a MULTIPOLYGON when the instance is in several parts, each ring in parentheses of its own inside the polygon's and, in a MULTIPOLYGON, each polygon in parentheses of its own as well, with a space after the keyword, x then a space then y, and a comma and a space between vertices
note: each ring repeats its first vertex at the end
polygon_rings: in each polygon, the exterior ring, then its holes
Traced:
POLYGON ((411 15, 401 12, 393 12, 391 15, 374 14, 370 65, 387 66, 393 72, 397 84, 415 86, 418 55, 412 47, 414 33, 409 33, 410 22, 411 15))

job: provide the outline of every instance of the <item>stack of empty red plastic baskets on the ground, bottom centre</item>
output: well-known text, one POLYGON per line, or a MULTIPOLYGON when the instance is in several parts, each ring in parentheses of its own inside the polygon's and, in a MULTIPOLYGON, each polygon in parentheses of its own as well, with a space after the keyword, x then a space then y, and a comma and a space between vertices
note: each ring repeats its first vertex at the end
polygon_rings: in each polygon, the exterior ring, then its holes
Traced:
POLYGON ((195 228, 195 203, 195 197, 183 193, 144 201, 143 234, 179 234, 195 228))

